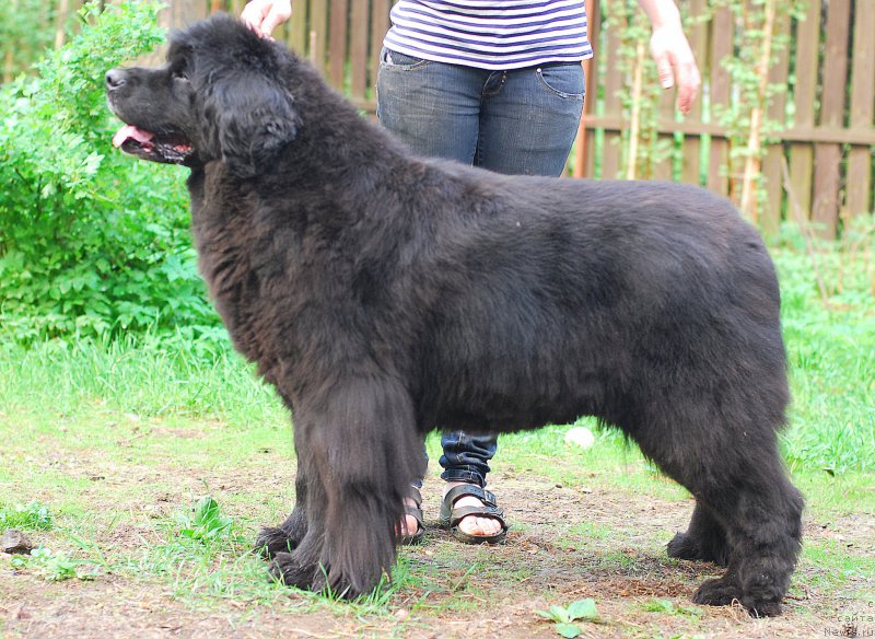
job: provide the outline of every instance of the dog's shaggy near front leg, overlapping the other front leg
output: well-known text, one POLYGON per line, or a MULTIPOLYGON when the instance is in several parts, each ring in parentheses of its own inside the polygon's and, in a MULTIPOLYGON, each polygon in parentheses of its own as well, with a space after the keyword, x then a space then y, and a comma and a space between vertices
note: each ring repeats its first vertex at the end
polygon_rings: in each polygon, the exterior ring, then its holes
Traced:
POLYGON ((424 469, 412 402, 398 380, 360 376, 295 406, 307 527, 273 573, 352 599, 390 574, 402 499, 424 469))

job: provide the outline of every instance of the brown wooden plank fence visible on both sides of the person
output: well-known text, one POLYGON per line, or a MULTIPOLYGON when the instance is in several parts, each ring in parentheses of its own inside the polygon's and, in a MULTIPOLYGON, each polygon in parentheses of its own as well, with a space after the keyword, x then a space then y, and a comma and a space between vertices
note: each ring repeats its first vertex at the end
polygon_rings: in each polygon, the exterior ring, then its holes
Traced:
MULTIPOLYGON (((631 80, 615 55, 619 30, 605 15, 623 0, 586 0, 596 59, 585 65, 587 97, 570 164, 575 176, 621 177, 630 117, 631 80)), ((393 0, 293 0, 291 21, 276 35, 307 57, 363 109, 374 111, 374 86, 383 35, 393 0)), ((79 4, 79 2, 73 2, 79 4)), ((238 14, 244 0, 173 0, 167 26, 210 12, 238 14)), ((721 61, 734 53, 737 28, 727 9, 709 13, 709 0, 680 0, 687 35, 702 71, 702 96, 686 118, 677 117, 674 96, 658 104, 656 135, 669 151, 651 175, 700 184, 738 198, 730 171, 732 136, 719 124, 721 105, 738 100, 737 86, 721 61)), ((807 0, 805 20, 786 19, 789 37, 770 82, 786 84, 768 118, 778 125, 761 165, 765 206, 758 222, 767 233, 801 214, 822 235, 836 236, 849 217, 872 213, 875 185, 875 0, 807 0)), ((648 80, 656 82, 655 78, 648 80)))

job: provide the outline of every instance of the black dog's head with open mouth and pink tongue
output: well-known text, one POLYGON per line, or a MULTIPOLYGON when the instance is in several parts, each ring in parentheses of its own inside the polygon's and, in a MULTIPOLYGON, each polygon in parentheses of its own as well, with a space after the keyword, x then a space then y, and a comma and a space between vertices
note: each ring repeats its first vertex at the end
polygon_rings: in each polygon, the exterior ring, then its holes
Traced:
POLYGON ((215 15, 171 38, 167 65, 112 69, 106 94, 126 126, 113 143, 188 166, 220 160, 241 177, 262 171, 295 137, 283 53, 237 20, 215 15))

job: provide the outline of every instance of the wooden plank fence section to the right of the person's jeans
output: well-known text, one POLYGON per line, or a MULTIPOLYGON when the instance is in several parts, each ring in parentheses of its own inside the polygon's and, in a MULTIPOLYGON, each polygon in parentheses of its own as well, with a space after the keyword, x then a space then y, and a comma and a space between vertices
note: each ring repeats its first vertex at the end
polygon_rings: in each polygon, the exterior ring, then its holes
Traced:
MULTIPOLYGON (((606 3, 587 4, 592 5, 596 50, 616 50, 617 34, 603 28, 600 13, 606 3)), ((705 0, 685 4, 693 16, 705 13, 705 0)), ((714 124, 720 105, 733 100, 734 86, 721 60, 733 53, 734 28, 726 9, 688 28, 709 106, 700 100, 687 118, 677 121, 672 97, 663 101, 660 133, 682 138, 678 144, 681 167, 678 172, 673 165, 676 158, 669 156, 657 167, 658 177, 675 175, 723 195, 737 195, 732 193, 734 176, 727 172, 731 140, 714 124), (702 153, 703 143, 707 153, 702 153)), ((768 113, 779 129, 762 163, 767 206, 760 223, 773 232, 782 219, 793 219, 797 207, 822 234, 835 236, 844 217, 873 209, 875 1, 808 0, 805 20, 786 20, 778 28, 790 44, 771 67, 769 80, 789 86, 775 96, 768 113)), ((600 176, 617 176, 620 171, 616 140, 628 129, 623 78, 616 58, 605 58, 602 69, 590 65, 587 95, 597 98, 587 100, 579 136, 582 143, 575 150, 580 175, 595 174, 597 132, 605 141, 599 146, 600 176)))

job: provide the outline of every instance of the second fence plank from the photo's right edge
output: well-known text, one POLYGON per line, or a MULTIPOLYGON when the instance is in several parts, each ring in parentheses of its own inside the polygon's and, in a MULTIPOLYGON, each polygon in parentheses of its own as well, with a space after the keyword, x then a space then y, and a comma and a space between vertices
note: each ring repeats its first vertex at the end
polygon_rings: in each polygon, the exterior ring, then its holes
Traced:
MULTIPOLYGON (((844 93, 848 82, 848 34, 851 0, 829 0, 827 7, 827 44, 824 59, 824 90, 820 125, 840 127, 844 115, 844 93)), ((818 144, 814 151, 814 201, 812 221, 819 232, 835 237, 839 221, 839 188, 841 186, 841 147, 818 144)))

